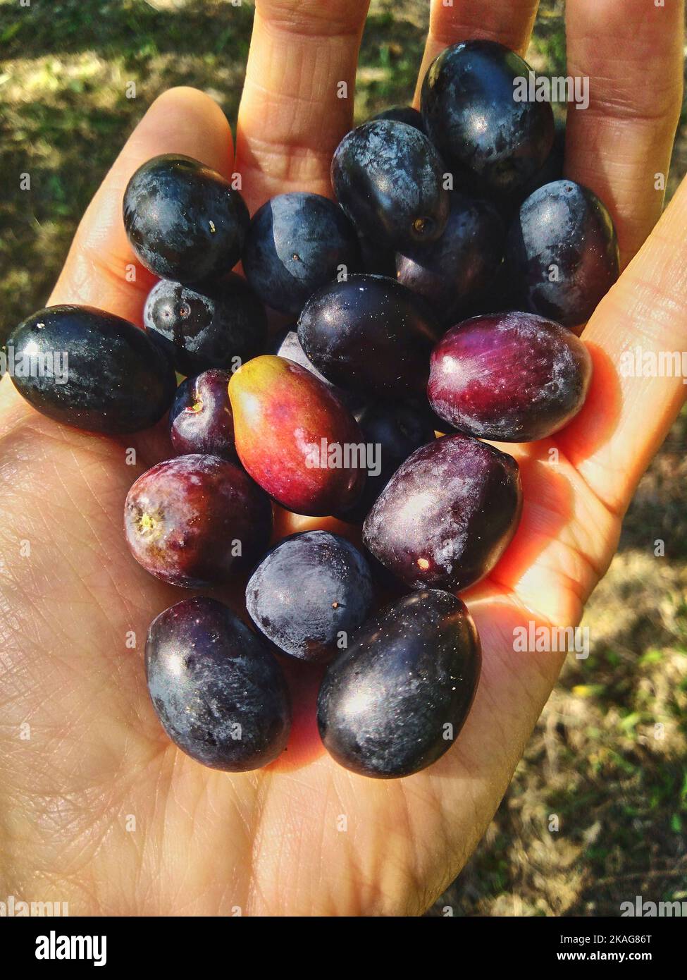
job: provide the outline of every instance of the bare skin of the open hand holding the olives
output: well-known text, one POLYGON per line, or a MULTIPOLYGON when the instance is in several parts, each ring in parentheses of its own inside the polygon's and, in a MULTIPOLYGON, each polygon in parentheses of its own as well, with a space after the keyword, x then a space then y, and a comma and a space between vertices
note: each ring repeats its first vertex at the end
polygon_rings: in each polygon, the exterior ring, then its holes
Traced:
MULTIPOLYGON (((433 0, 427 60, 468 36, 522 52, 536 3, 484 8, 433 0)), ((335 98, 336 84, 346 79, 353 91, 366 12, 365 0, 258 0, 235 159, 209 97, 163 95, 88 208, 50 303, 141 323, 153 279, 140 268, 135 283, 124 278, 134 259, 122 195, 156 154, 240 172, 252 211, 284 191, 329 194, 331 155, 353 108, 335 98)), ((623 377, 618 367, 626 346, 687 343, 687 184, 654 229, 655 174, 667 171, 681 100, 682 4, 568 0, 566 18, 568 71, 590 76, 591 104, 569 113, 565 175, 609 206, 629 266, 584 331, 594 380, 582 413, 553 440, 502 447, 521 467, 524 511, 505 557, 464 596, 483 672, 459 741, 405 779, 355 775, 319 746, 314 692, 301 681, 283 760, 232 775, 179 753, 150 706, 143 646, 150 621, 182 594, 133 562, 122 530, 126 491, 169 453, 166 436, 160 428, 114 440, 61 426, 5 378, 0 894, 66 901, 73 915, 417 914, 469 857, 563 660, 515 653, 513 629, 579 620, 687 392, 680 378, 623 377), (126 465, 129 446, 136 466, 126 465)), ((278 523, 284 534, 327 526, 293 515, 278 523)))

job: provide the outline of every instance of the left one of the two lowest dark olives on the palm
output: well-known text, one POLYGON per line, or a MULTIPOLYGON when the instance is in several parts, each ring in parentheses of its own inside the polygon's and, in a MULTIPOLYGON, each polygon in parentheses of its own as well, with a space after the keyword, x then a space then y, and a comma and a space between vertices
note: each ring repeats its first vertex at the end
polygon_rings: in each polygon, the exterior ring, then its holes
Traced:
POLYGON ((145 668, 163 728, 191 759, 245 772, 286 748, 291 706, 281 667, 216 599, 184 599, 160 613, 148 630, 145 668))

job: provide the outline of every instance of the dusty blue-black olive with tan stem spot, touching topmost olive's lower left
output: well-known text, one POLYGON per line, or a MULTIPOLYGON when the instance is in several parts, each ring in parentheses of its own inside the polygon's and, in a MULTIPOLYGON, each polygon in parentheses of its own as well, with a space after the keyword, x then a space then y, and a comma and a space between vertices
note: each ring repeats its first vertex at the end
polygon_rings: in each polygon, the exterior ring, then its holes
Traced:
POLYGON ((331 183, 359 233, 395 249, 434 241, 449 216, 444 164, 408 123, 377 120, 348 132, 334 152, 331 183))

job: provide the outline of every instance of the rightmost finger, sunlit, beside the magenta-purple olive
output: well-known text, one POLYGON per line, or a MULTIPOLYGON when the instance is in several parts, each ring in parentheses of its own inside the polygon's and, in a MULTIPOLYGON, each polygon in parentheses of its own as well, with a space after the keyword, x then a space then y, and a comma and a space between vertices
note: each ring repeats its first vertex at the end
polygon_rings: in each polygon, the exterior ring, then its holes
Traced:
POLYGON ((594 379, 558 442, 622 513, 687 396, 687 179, 584 331, 594 379))

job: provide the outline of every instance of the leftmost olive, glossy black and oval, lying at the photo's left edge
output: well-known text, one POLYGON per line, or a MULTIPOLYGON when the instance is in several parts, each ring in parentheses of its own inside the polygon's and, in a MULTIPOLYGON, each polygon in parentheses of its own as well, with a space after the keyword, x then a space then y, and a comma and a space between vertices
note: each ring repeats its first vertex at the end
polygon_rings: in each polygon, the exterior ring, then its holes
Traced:
MULTIPOLYGON (((86 306, 54 306, 20 323, 7 340, 15 387, 44 416, 90 432, 118 435, 149 428, 170 408, 172 366, 143 330, 86 306), (67 355, 65 383, 55 374, 22 376, 20 363, 67 355)), ((44 363, 41 362, 41 363, 44 363)), ((37 365, 37 362, 36 362, 37 365)))

